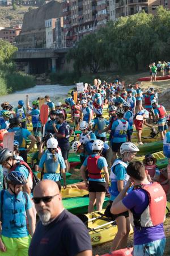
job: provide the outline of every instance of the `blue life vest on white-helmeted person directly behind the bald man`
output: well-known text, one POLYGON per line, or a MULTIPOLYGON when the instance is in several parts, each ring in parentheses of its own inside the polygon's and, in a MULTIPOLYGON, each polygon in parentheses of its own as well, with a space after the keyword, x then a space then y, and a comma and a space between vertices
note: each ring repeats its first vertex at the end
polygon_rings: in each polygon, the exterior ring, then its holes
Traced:
POLYGON ((49 151, 45 152, 46 160, 44 163, 44 173, 60 174, 60 164, 58 162, 58 155, 55 153, 56 162, 53 159, 53 154, 49 151))

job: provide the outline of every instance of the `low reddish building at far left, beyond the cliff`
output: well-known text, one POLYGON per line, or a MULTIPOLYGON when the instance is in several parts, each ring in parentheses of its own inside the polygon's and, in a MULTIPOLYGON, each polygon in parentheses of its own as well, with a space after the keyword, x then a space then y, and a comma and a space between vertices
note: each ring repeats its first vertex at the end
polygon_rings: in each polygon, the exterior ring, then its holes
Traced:
POLYGON ((15 42, 16 36, 19 35, 22 27, 20 25, 14 27, 5 27, 0 29, 0 39, 6 40, 13 44, 15 42))

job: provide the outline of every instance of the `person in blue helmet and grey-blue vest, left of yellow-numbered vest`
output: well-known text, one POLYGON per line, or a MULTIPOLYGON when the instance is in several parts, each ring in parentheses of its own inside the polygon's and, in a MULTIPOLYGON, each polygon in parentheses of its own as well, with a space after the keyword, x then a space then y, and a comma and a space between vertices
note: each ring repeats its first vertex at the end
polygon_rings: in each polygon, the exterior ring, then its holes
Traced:
POLYGON ((109 124, 103 116, 103 109, 95 109, 96 117, 92 119, 91 126, 94 126, 94 133, 97 139, 101 139, 101 141, 106 141, 106 133, 100 133, 99 131, 103 131, 105 127, 109 124))

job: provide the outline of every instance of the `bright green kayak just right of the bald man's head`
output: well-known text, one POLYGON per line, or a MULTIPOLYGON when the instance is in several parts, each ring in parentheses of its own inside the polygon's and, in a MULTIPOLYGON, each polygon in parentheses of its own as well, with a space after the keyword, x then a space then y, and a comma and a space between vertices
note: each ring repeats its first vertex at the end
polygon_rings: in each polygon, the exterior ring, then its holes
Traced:
MULTIPOLYGON (((73 214, 87 213, 89 198, 88 197, 74 197, 62 200, 63 207, 73 214)), ((103 208, 107 207, 109 198, 105 197, 103 208)))

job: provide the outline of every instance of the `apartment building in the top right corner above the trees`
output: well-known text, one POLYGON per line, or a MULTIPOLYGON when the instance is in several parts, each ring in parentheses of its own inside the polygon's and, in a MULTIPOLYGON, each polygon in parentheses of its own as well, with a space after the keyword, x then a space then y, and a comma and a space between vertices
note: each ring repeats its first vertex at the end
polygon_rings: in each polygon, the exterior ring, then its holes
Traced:
POLYGON ((170 8, 169 0, 110 0, 110 19, 115 20, 121 16, 128 16, 145 10, 146 13, 155 14, 158 6, 170 8))

